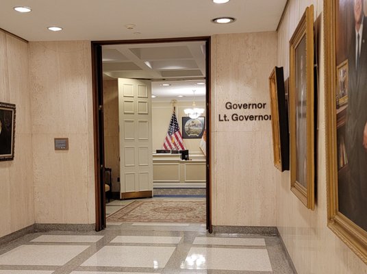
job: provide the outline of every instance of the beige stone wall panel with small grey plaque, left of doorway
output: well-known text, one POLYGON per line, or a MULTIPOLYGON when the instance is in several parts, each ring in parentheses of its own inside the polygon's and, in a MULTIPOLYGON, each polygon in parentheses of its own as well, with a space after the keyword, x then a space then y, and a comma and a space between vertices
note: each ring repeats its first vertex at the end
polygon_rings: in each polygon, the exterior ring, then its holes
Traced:
POLYGON ((29 42, 36 223, 95 222, 90 56, 87 41, 29 42))

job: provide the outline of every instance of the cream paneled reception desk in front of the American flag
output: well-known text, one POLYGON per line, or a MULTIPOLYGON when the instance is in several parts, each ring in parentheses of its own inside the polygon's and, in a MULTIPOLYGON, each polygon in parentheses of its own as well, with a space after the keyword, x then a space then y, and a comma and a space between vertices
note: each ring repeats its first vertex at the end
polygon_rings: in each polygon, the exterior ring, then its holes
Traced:
POLYGON ((191 153, 190 159, 181 160, 181 154, 153 153, 153 187, 205 188, 205 156, 191 153))

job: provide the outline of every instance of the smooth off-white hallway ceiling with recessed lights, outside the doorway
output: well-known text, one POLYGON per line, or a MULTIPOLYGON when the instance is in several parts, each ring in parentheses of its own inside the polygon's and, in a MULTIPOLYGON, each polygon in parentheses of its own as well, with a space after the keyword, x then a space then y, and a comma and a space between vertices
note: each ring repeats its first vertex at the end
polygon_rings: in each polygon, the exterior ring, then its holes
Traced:
POLYGON ((1 0, 0 28, 29 41, 130 40, 275 31, 287 0, 1 0), (21 14, 14 6, 25 5, 21 14), (220 16, 236 21, 212 23, 220 16), (125 25, 136 27, 127 29, 125 25), (51 32, 49 26, 62 32, 51 32))

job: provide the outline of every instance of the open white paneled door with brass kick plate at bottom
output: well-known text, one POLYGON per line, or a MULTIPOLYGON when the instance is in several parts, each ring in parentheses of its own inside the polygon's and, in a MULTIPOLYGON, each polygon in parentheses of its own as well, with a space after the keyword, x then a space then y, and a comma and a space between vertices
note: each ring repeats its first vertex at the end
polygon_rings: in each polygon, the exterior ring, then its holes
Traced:
POLYGON ((151 82, 118 79, 121 199, 153 196, 151 82))

